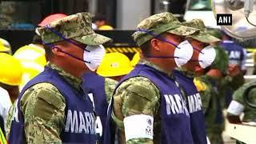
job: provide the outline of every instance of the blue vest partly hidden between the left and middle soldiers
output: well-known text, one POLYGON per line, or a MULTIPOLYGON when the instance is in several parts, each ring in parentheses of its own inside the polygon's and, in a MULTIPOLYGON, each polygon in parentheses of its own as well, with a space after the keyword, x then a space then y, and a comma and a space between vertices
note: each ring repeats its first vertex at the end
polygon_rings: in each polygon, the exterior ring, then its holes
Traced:
POLYGON ((98 143, 103 143, 104 128, 106 122, 106 110, 108 103, 106 102, 105 78, 93 72, 83 74, 82 87, 88 93, 92 102, 94 102, 94 110, 97 115, 96 119, 96 135, 98 143))

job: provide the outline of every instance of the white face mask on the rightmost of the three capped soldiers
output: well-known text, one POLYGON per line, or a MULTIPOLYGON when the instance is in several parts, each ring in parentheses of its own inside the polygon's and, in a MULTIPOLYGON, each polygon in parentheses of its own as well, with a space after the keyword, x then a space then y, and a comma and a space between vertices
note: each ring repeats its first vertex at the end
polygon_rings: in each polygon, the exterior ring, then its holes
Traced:
POLYGON ((214 59, 216 58, 216 51, 212 46, 206 46, 201 50, 201 53, 198 55, 199 65, 205 69, 207 66, 210 66, 214 59))

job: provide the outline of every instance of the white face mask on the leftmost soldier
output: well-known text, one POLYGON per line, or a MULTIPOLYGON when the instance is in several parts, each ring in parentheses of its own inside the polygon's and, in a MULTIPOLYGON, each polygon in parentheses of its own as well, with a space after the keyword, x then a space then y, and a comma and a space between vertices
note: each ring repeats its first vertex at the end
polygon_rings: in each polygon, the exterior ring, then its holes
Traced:
POLYGON ((105 48, 102 45, 86 46, 86 50, 83 52, 83 60, 86 61, 86 66, 91 71, 95 71, 102 62, 105 55, 105 48))

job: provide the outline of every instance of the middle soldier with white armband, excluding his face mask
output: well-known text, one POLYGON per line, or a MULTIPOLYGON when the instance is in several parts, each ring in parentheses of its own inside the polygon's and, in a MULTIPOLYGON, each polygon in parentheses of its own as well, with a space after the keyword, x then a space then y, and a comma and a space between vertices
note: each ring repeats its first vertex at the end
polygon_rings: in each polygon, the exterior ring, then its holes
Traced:
MULTIPOLYGON (((108 113, 114 121, 114 126, 117 127, 115 131, 117 141, 119 143, 193 143, 189 114, 186 106, 183 105, 184 99, 177 82, 174 82, 171 70, 177 66, 173 55, 175 47, 183 41, 182 36, 194 34, 198 29, 182 26, 173 14, 167 12, 144 19, 137 28, 133 38, 142 49, 142 59, 134 70, 118 83, 108 113), (137 72, 140 74, 136 74, 137 72), (155 76, 151 77, 151 73, 155 76), (159 82, 166 84, 161 85, 159 82), (168 87, 169 92, 166 92, 167 88, 166 90, 162 88, 165 86, 168 87), (171 103, 163 98, 165 95, 169 99, 168 94, 165 93, 169 93, 172 100, 174 97, 171 94, 176 93, 176 98, 179 98, 177 102, 183 103, 179 103, 181 111, 178 107, 176 107, 177 111, 170 111, 168 106, 171 103), (176 112, 179 114, 177 115, 176 112), (168 116, 174 117, 168 121, 168 116), (170 123, 166 124, 166 122, 170 123), (170 133, 168 130, 175 131, 170 133)), ((173 104, 177 106, 176 103, 173 104)), ((110 119, 107 119, 106 123, 110 124, 110 119)), ((114 133, 111 135, 110 132, 113 129, 113 127, 106 128, 109 130, 106 132, 105 138, 109 140, 106 143, 113 143, 113 138, 110 138, 114 136, 114 133)))

